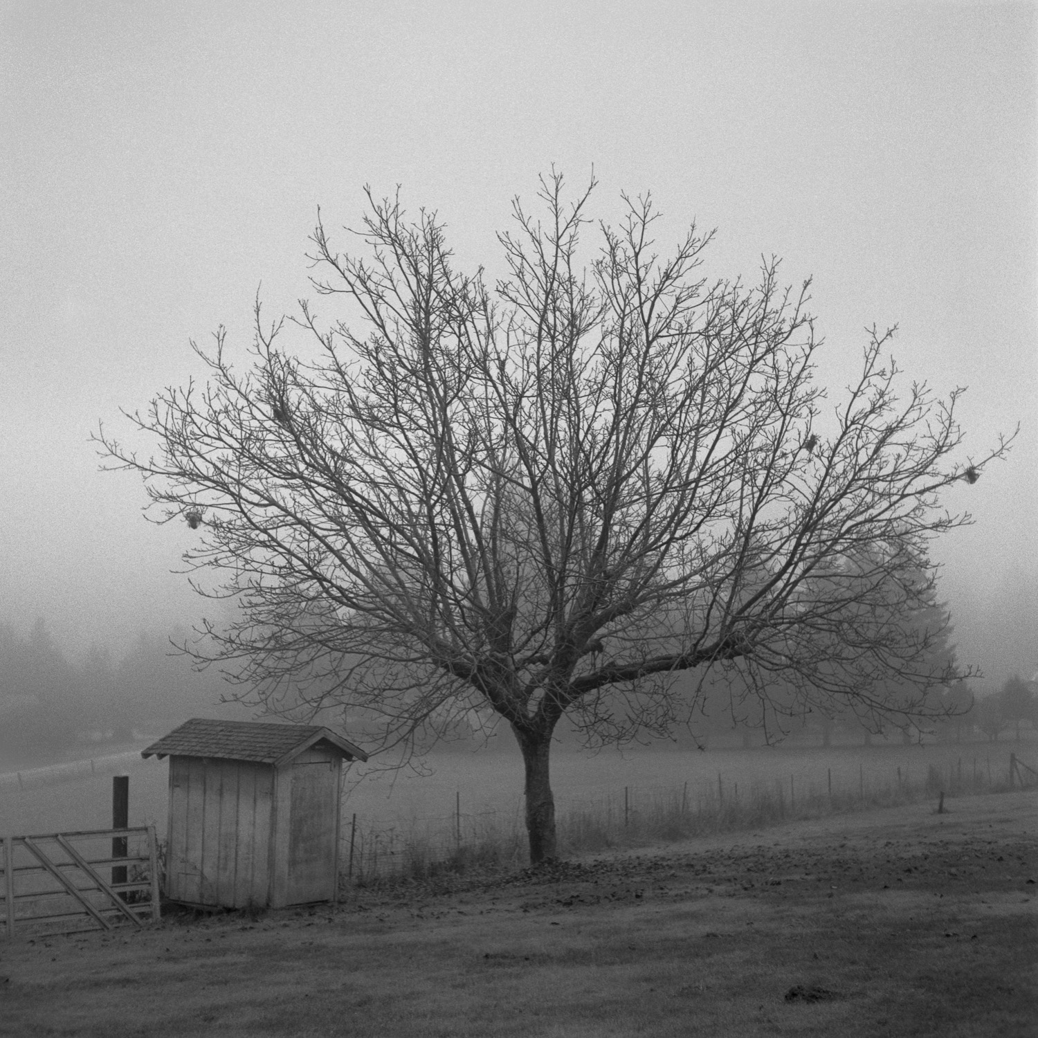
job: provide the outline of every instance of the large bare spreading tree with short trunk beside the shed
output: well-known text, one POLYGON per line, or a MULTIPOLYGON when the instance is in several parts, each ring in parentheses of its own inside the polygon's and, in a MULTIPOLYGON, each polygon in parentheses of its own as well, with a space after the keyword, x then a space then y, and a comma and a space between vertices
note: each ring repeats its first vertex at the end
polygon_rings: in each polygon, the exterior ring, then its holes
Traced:
POLYGON ((1006 449, 956 459, 960 390, 899 395, 892 331, 823 410, 808 284, 783 289, 774 261, 756 288, 708 282, 694 225, 661 258, 648 196, 625 196, 584 265, 593 187, 567 203, 542 179, 543 222, 515 201, 493 289, 456 269, 435 215, 368 192, 361 254, 319 222, 309 257, 352 324, 301 302, 266 325, 257 301, 245 371, 221 328, 195 347, 203 387, 130 415, 157 457, 99 433, 158 521, 200 527, 185 558, 215 572, 204 591, 237 600, 189 647, 199 660, 268 710, 377 716, 385 746, 503 717, 535 863, 556 850, 564 714, 590 739, 662 733, 689 706, 674 676, 711 666, 764 705, 781 682, 776 713, 925 712, 949 676, 923 665, 891 588, 910 610, 929 542, 969 521, 940 491, 1006 449), (305 355, 280 346, 292 327, 305 355))

